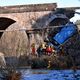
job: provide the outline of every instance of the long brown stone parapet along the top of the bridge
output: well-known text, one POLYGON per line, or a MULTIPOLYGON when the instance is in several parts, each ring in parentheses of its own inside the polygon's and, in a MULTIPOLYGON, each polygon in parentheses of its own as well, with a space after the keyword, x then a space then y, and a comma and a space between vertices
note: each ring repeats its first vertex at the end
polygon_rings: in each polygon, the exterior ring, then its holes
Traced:
POLYGON ((32 4, 0 7, 0 13, 23 13, 35 11, 52 11, 57 7, 56 3, 50 4, 32 4))

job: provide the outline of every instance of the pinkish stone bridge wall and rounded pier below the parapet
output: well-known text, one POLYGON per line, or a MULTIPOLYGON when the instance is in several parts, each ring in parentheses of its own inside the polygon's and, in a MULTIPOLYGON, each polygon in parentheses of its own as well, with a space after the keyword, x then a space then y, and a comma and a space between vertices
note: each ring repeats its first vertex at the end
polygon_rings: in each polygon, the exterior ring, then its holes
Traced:
MULTIPOLYGON (((49 19, 50 16, 51 16, 51 11, 0 14, 0 17, 9 18, 16 21, 14 24, 10 25, 7 28, 7 30, 15 30, 15 29, 23 29, 23 28, 32 29, 35 27, 44 27, 46 24, 46 21, 49 19)), ((1 47, 1 51, 7 55, 8 54, 16 55, 16 52, 17 52, 16 50, 18 48, 18 45, 20 45, 21 47, 21 44, 23 42, 24 44, 26 43, 24 46, 26 46, 26 51, 27 51, 27 47, 29 48, 29 46, 31 46, 33 42, 34 43, 36 42, 36 44, 39 45, 42 41, 43 41, 43 38, 39 34, 31 34, 31 38, 29 41, 25 31, 5 32, 1 38, 1 43, 2 43, 1 46, 3 46, 1 47), (25 37, 26 38, 24 39, 21 35, 25 35, 24 38, 25 37), (18 37, 19 37, 19 40, 18 40, 18 37), (15 44, 14 47, 12 47, 13 44, 15 44), (9 49, 8 46, 11 47, 11 50, 9 49)), ((22 51, 22 53, 19 53, 19 52, 18 53, 23 54, 23 52, 24 51, 22 51)), ((29 54, 28 52, 29 51, 27 51, 27 54, 29 54)))

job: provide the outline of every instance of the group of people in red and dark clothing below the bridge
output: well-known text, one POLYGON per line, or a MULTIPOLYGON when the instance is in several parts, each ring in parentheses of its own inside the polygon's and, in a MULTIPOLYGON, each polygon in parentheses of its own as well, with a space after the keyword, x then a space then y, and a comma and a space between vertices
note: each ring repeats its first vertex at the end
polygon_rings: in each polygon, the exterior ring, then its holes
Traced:
POLYGON ((55 52, 55 49, 51 43, 41 43, 38 48, 36 49, 35 43, 31 45, 31 53, 32 55, 38 55, 39 57, 42 55, 51 55, 55 52))

